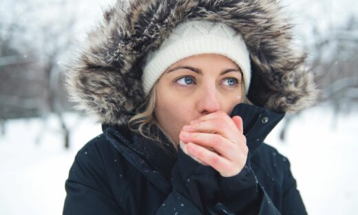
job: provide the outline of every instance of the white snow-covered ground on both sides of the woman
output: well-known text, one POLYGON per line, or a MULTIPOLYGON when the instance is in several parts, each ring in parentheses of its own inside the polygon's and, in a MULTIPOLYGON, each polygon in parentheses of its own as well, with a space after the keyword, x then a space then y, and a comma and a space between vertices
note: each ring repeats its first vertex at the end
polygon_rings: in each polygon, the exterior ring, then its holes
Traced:
MULTIPOLYGON (((66 116, 74 128, 70 150, 63 149, 55 117, 46 123, 39 119, 6 123, 6 135, 0 137, 0 214, 62 213, 74 156, 101 133, 91 119, 66 116)), ((266 139, 291 161, 309 214, 357 214, 358 114, 335 117, 325 107, 315 107, 293 121, 285 143, 278 139, 283 123, 266 139)))

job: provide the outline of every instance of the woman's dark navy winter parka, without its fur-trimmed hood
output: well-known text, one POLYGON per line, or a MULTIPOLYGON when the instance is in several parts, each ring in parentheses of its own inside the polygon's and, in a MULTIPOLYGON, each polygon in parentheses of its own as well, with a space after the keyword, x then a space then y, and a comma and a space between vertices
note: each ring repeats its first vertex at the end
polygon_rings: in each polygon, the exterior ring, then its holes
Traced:
POLYGON ((103 124, 103 134, 76 155, 65 182, 63 214, 306 214, 288 159, 263 143, 282 119, 254 105, 236 105, 249 156, 236 176, 222 177, 179 148, 176 153, 103 124))

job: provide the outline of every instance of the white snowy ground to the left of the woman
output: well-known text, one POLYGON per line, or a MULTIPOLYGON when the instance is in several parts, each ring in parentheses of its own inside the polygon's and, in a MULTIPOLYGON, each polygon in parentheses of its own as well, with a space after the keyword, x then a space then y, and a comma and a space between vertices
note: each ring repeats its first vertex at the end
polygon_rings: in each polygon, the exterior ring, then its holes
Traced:
POLYGON ((70 150, 63 148, 59 121, 54 116, 45 125, 39 119, 6 123, 0 139, 0 214, 61 214, 64 182, 76 152, 101 133, 101 127, 78 114, 66 114, 74 127, 70 150), (36 143, 41 130, 45 133, 36 143))

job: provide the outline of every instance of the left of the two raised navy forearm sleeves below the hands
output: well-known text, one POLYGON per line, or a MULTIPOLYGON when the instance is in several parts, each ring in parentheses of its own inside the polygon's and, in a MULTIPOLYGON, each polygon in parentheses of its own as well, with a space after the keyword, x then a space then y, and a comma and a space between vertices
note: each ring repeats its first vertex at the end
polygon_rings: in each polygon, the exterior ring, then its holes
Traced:
POLYGON ((185 154, 180 148, 171 169, 173 191, 157 214, 207 214, 207 205, 215 203, 218 172, 185 154))

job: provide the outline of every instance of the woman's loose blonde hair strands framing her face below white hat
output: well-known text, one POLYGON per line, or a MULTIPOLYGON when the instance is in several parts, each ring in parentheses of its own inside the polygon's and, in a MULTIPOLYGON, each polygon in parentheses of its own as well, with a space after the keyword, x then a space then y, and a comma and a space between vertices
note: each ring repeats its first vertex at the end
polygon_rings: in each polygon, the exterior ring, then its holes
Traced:
MULTIPOLYGON (((154 83, 153 88, 149 92, 149 99, 143 104, 144 110, 139 111, 134 116, 131 117, 128 121, 129 129, 132 132, 136 132, 145 136, 148 139, 153 141, 157 141, 160 147, 162 147, 163 142, 159 138, 158 133, 153 132, 151 128, 156 125, 159 130, 165 134, 165 137, 170 141, 171 145, 174 147, 176 151, 178 151, 178 145, 174 143, 174 141, 170 138, 170 136, 165 132, 165 130, 160 126, 158 121, 156 120, 156 116, 154 116, 154 107, 156 106, 156 97, 157 97, 157 86, 158 80, 154 83)), ((245 94, 245 83, 242 81, 242 101, 241 103, 251 104, 251 101, 247 98, 245 94)))

